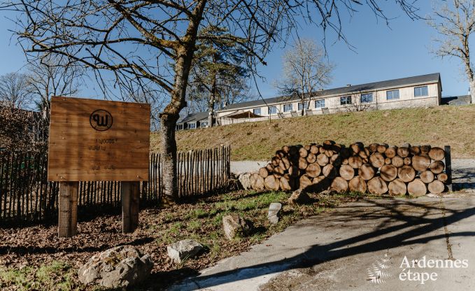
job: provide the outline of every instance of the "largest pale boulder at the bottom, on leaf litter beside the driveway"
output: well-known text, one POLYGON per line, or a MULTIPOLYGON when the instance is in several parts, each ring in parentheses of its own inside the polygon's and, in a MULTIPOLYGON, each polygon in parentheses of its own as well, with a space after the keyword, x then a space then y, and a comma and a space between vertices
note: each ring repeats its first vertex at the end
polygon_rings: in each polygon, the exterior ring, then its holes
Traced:
POLYGON ((127 288, 150 275, 153 262, 132 246, 118 246, 94 255, 80 267, 79 280, 106 288, 127 288))

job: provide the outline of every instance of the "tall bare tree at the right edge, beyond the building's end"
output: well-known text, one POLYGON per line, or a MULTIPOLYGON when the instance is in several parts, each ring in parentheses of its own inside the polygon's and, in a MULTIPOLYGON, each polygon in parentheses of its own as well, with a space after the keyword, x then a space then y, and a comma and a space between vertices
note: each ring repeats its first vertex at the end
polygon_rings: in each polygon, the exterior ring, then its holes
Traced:
POLYGON ((456 57, 462 61, 469 80, 472 104, 475 104, 474 65, 470 60, 469 38, 475 32, 475 0, 444 1, 433 7, 428 24, 440 35, 434 42, 434 53, 439 57, 456 57), (449 2, 449 3, 447 3, 449 2))

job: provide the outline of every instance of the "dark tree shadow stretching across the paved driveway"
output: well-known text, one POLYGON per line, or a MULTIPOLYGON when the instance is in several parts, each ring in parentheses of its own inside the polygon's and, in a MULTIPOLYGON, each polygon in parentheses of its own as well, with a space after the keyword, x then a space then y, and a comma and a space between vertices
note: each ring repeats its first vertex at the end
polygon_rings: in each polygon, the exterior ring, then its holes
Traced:
MULTIPOLYGON (((446 234, 421 236, 475 215, 475 207, 457 211, 446 209, 444 206, 430 206, 424 203, 397 199, 391 200, 389 203, 388 201, 367 199, 364 199, 364 201, 371 204, 371 206, 367 204, 343 206, 343 208, 347 208, 345 210, 346 215, 329 213, 325 215, 325 222, 348 223, 354 220, 367 220, 368 223, 371 223, 371 221, 380 220, 383 217, 388 218, 388 221, 383 220, 383 222, 376 225, 376 230, 372 232, 362 233, 325 245, 313 245, 304 253, 295 257, 288 257, 285 260, 265 262, 250 267, 233 269, 232 271, 222 271, 218 274, 189 278, 173 290, 211 288, 215 285, 255 278, 294 267, 312 267, 320 262, 342 257, 444 239, 446 234), (364 211, 362 208, 364 208, 364 211), (371 209, 368 210, 367 208, 371 209), (405 215, 404 210, 407 211, 409 208, 414 208, 416 215, 405 215), (388 213, 391 213, 390 217, 388 217, 388 213), (435 218, 433 218, 434 215, 436 215, 435 218), (399 223, 389 224, 390 221, 399 223)), ((297 224, 295 227, 305 227, 305 222, 297 224)), ((450 235, 475 236, 475 232, 453 232, 450 235)))

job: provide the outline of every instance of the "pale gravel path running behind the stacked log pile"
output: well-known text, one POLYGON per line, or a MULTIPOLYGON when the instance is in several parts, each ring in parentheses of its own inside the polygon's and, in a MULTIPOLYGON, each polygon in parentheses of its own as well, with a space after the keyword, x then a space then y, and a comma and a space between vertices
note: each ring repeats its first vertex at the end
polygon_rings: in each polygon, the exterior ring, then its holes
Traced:
MULTIPOLYGON (((232 173, 253 172, 265 166, 266 161, 231 162, 232 173)), ((452 159, 453 190, 475 193, 475 159, 452 159)))

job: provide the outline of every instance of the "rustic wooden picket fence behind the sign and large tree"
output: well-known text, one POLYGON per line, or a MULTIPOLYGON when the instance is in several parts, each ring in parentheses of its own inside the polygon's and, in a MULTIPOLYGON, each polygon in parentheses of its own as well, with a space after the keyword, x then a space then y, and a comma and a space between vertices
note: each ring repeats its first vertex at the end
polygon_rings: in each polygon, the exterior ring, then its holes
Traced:
MULTIPOLYGON (((229 146, 178 152, 179 197, 218 192, 230 176, 229 146)), ((59 183, 48 182, 44 153, 0 152, 0 224, 36 222, 57 216, 59 183)), ((159 203, 163 196, 160 154, 150 154, 148 182, 141 183, 141 203, 159 203)), ((150 204, 149 204, 150 205, 150 204)), ((81 181, 78 206, 120 206, 120 182, 81 181)))

